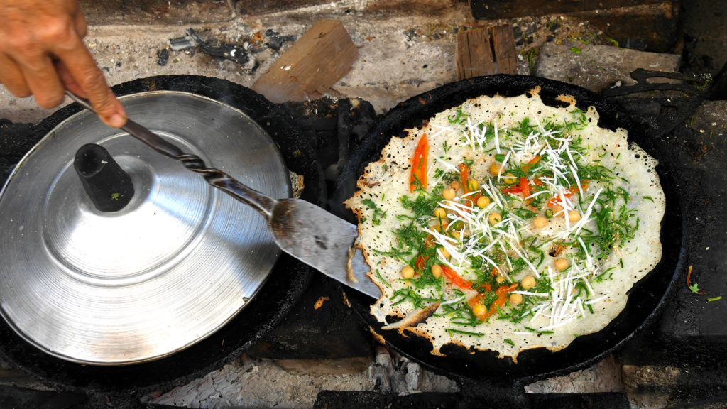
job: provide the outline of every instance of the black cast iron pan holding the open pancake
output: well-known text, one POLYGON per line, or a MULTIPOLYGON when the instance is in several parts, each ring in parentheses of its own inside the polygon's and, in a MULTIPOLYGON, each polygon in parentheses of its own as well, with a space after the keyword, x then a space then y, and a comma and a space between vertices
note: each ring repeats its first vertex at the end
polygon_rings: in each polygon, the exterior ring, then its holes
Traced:
MULTIPOLYGON (((558 95, 573 95, 577 106, 585 110, 595 106, 601 118, 598 125, 614 130, 623 127, 629 132, 629 139, 638 143, 648 154, 656 159, 667 157, 656 141, 647 140, 643 132, 627 119, 616 106, 601 96, 575 87, 571 84, 548 79, 499 74, 466 79, 446 84, 430 92, 417 95, 393 108, 366 136, 361 148, 353 155, 337 183, 332 202, 337 204, 335 213, 355 221, 350 210, 342 202, 353 196, 356 180, 370 162, 379 159, 382 148, 392 137, 404 136, 406 128, 419 127, 422 121, 434 114, 463 103, 479 95, 504 95, 513 97, 523 95, 534 87, 541 87, 542 100, 550 106, 563 106, 555 98, 558 95)), ((598 333, 578 337, 566 349, 550 352, 547 349, 531 349, 518 355, 518 362, 510 358, 500 358, 497 352, 481 352, 465 349, 462 346, 444 346, 441 352, 445 357, 430 354, 429 341, 415 335, 402 336, 396 331, 381 330, 381 324, 369 314, 371 298, 350 291, 347 293, 352 308, 364 319, 367 325, 393 349, 416 360, 430 370, 448 376, 472 379, 503 378, 510 380, 537 379, 569 373, 592 365, 619 348, 639 329, 654 321, 659 313, 667 292, 675 280, 682 245, 682 220, 678 196, 670 176, 670 170, 663 161, 656 168, 667 197, 667 209, 662 221, 662 261, 630 290, 624 311, 610 325, 598 333)))

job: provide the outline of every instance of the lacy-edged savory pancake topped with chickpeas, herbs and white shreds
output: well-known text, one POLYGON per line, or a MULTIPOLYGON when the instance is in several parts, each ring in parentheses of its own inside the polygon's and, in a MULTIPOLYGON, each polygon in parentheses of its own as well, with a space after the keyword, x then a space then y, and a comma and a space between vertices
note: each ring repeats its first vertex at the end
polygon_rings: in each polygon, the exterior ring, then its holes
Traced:
POLYGON ((386 328, 516 358, 622 311, 661 258, 656 160, 561 100, 467 100, 366 167, 346 204, 386 328))

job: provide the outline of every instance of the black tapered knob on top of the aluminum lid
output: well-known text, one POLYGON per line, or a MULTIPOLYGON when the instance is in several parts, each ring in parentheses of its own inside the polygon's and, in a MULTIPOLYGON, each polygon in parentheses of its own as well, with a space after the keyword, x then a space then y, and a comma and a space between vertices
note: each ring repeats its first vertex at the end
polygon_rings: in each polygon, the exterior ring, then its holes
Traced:
POLYGON ((134 196, 132 178, 103 146, 87 143, 76 151, 73 168, 91 202, 102 212, 117 212, 134 196))

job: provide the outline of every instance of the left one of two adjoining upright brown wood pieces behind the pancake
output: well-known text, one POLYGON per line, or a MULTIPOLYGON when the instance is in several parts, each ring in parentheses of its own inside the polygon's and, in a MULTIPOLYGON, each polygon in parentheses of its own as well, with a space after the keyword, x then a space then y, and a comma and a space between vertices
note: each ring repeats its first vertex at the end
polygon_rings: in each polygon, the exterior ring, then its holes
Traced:
POLYGON ((486 27, 457 33, 457 79, 495 74, 486 27))

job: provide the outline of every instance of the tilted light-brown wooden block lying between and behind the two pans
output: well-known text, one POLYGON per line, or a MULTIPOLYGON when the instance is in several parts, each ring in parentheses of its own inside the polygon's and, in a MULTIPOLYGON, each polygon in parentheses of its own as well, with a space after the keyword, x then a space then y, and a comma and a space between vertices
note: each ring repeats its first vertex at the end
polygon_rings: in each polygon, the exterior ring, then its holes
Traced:
POLYGON ((345 27, 318 20, 252 85, 274 103, 316 99, 358 59, 358 49, 345 27))

